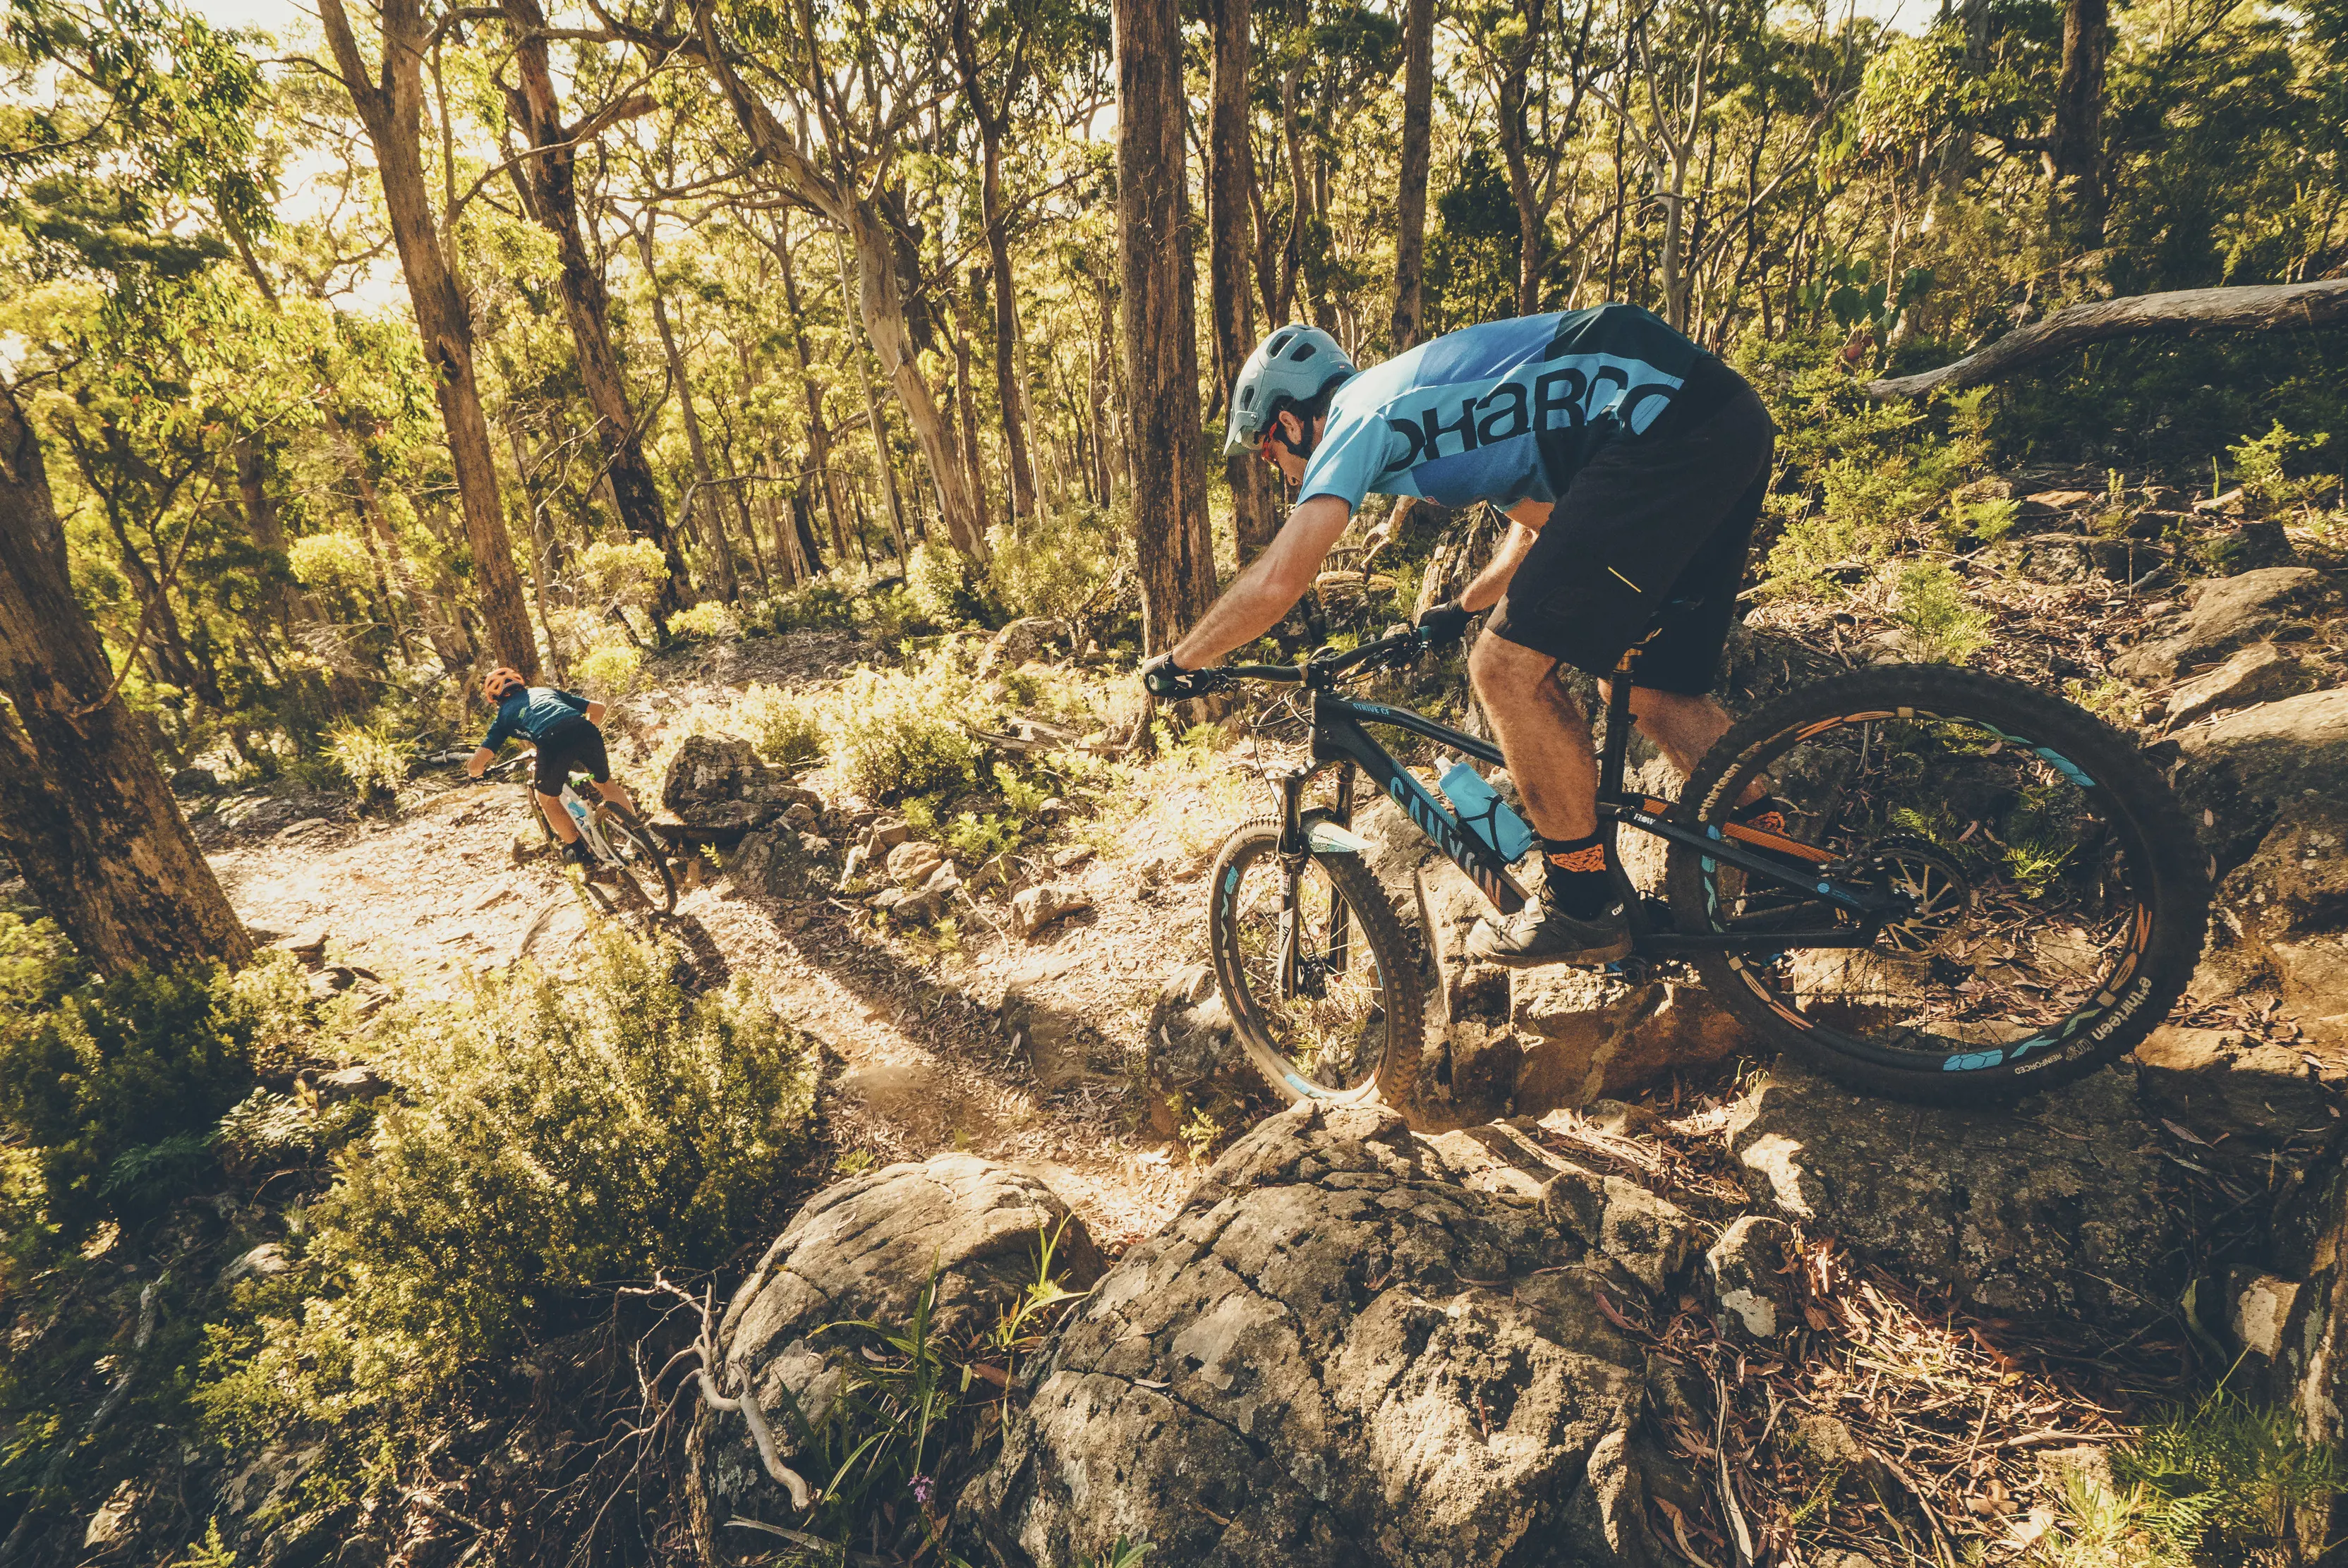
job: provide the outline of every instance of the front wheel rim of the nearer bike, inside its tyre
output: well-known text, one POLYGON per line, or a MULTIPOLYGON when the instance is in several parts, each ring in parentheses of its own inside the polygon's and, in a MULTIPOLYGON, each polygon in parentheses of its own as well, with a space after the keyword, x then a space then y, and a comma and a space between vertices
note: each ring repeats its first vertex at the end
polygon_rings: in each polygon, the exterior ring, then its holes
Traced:
POLYGON ((1226 847, 1214 883, 1214 960, 1249 1054, 1291 1099, 1367 1099, 1404 1012, 1369 922, 1305 857, 1284 869, 1277 826, 1226 847))

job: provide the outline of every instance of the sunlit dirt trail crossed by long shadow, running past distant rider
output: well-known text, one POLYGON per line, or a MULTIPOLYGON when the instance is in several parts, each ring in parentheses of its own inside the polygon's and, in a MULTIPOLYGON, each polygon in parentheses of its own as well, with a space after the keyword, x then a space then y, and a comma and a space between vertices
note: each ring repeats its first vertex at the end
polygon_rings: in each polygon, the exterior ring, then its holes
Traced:
MULTIPOLYGON (((775 638, 763 657, 672 660, 672 681, 655 685, 648 707, 674 711, 749 678, 819 678, 841 655, 864 653, 808 643, 775 638)), ((648 793, 641 765, 657 737, 655 723, 615 744, 639 793, 648 793)), ((249 925, 324 934, 333 962, 387 984, 451 993, 512 962, 533 922, 528 955, 559 969, 596 915, 549 861, 514 864, 517 833, 533 838, 524 784, 453 777, 451 765, 451 782, 413 784, 397 819, 336 807, 345 815, 286 826, 214 819, 200 838, 249 925)), ((1197 941, 1188 899, 1151 906, 1174 890, 1162 887, 1162 864, 1148 871, 1139 894, 1122 897, 1122 869, 1094 864, 1080 880, 1099 908, 1035 941, 965 922, 960 951, 946 953, 873 932, 852 904, 770 901, 723 878, 683 892, 667 930, 704 984, 754 976, 836 1054, 826 1110, 841 1148, 880 1162, 949 1148, 1003 1160, 1047 1181, 1104 1244, 1125 1244, 1155 1230, 1193 1181, 1183 1148, 1141 1124, 1115 1061, 1139 1047, 1148 998, 1167 974, 1169 927, 1181 927, 1174 946, 1197 941), (1017 998, 1010 1014, 1005 993, 1017 998)))

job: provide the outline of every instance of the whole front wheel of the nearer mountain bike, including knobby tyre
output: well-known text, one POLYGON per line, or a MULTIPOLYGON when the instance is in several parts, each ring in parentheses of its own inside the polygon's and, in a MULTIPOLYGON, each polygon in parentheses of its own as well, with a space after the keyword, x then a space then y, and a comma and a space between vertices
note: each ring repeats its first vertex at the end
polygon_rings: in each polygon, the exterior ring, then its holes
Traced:
MULTIPOLYGON (((1308 829, 1320 822, 1308 812, 1308 829)), ((1280 854, 1259 817, 1214 857, 1207 946, 1249 1063, 1291 1101, 1402 1106, 1425 1038, 1418 965, 1392 901, 1345 850, 1280 854)))

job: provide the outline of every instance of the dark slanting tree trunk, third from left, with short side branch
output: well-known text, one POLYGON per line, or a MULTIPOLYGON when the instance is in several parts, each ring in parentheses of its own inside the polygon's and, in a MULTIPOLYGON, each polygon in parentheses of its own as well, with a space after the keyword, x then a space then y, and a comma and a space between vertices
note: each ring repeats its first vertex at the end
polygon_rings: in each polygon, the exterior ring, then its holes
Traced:
MULTIPOLYGON (((564 298, 564 319, 571 324, 571 343, 578 354, 580 385, 587 390, 587 406, 596 418, 596 441, 603 446, 603 472, 610 479, 613 507, 629 538, 660 547, 669 570, 653 601, 653 617, 667 617, 686 606, 686 559, 676 549, 676 533, 669 528, 669 512, 660 502, 660 484, 653 465, 643 458, 643 434, 636 415, 627 406, 627 380, 620 376, 620 357, 610 347, 610 298, 603 291, 603 275, 587 254, 580 232, 578 200, 578 138, 589 127, 564 124, 561 101, 554 96, 554 70, 547 63, 547 16, 538 0, 502 0, 507 28, 514 35, 514 75, 519 92, 505 94, 507 113, 521 127, 531 153, 521 160, 524 188, 531 195, 531 216, 554 237, 559 268, 554 291, 564 298)), ((643 101, 650 108, 650 101, 643 101)), ((632 106, 622 106, 625 108, 632 106)), ((610 115, 601 115, 608 124, 610 115)), ((592 131, 589 131, 592 134, 592 131)), ((730 563, 726 575, 730 577, 730 563)))

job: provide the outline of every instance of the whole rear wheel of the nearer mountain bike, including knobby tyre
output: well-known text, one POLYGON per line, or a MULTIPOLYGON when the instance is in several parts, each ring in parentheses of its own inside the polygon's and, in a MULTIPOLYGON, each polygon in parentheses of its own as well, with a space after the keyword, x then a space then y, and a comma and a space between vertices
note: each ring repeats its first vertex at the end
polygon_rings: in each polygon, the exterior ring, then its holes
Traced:
POLYGON ((2184 995, 2207 859, 2137 746, 2069 702, 1944 667, 1822 681, 1730 728, 1681 822, 1721 838, 1756 784, 1792 807, 1777 843, 1794 843, 1770 854, 1820 883, 1674 843, 1672 915, 1754 939, 1702 953, 1705 988, 1846 1084, 2012 1099, 2132 1049, 2184 995), (1890 906, 1862 946, 1803 941, 1864 932, 1827 880, 1890 906))

